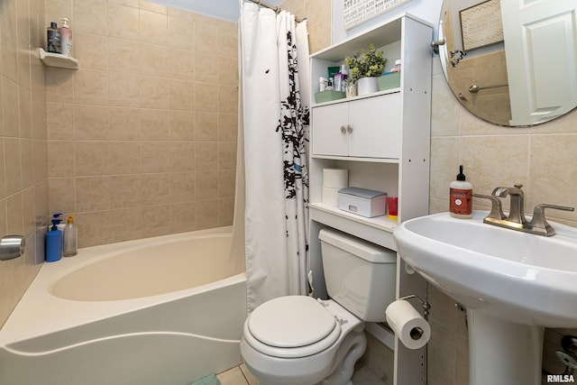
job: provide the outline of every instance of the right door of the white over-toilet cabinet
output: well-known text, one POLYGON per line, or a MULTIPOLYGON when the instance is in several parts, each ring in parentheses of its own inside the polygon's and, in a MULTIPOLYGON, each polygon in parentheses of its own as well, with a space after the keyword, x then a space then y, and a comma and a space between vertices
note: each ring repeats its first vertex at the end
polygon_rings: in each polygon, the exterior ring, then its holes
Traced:
POLYGON ((349 124, 349 156, 398 159, 400 93, 349 103, 349 124))

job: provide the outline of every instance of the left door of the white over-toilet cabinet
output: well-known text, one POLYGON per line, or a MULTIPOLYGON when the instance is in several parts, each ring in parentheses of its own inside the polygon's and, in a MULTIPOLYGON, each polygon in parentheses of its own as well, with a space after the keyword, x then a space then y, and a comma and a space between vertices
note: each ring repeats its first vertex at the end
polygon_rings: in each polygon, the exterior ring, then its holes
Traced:
POLYGON ((348 155, 348 105, 323 105, 313 108, 311 135, 314 155, 348 155))

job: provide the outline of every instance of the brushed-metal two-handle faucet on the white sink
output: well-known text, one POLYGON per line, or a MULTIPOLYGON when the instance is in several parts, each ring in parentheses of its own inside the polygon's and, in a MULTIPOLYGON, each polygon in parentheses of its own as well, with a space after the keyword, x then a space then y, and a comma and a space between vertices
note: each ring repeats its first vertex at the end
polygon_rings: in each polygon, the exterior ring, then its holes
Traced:
POLYGON ((515 185, 513 188, 499 187, 493 189, 490 196, 473 194, 473 197, 482 197, 490 199, 491 210, 483 222, 489 225, 496 225, 506 227, 508 229, 517 230, 530 234, 553 236, 555 234, 554 228, 547 223, 545 218, 545 208, 554 208, 556 210, 574 211, 574 207, 556 206, 549 204, 540 204, 535 206, 533 217, 530 222, 527 222, 525 217, 525 195, 521 189, 523 185, 515 185), (503 213, 501 206, 501 197, 510 197, 510 208, 508 215, 503 213))

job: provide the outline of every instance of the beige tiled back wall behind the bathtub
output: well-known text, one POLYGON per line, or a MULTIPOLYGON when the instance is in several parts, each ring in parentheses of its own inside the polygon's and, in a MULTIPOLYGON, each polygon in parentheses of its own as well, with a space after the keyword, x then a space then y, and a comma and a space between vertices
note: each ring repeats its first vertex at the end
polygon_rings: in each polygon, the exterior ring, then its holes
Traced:
POLYGON ((79 60, 46 75, 50 212, 78 215, 79 247, 231 225, 236 24, 139 0, 46 9, 79 60))

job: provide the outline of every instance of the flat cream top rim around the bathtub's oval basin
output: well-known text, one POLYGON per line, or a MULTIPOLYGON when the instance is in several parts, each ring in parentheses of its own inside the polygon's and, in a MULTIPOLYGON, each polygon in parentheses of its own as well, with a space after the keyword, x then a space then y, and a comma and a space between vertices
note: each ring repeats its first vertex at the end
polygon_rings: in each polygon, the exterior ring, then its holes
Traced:
POLYGON ((60 278, 88 264, 112 258, 121 252, 137 250, 144 244, 162 244, 189 239, 191 236, 206 238, 211 235, 232 233, 232 226, 197 230, 187 233, 160 235, 120 243, 108 243, 78 249, 78 255, 62 258, 57 262, 45 262, 26 289, 13 312, 0 328, 0 346, 9 346, 41 335, 60 332, 78 325, 95 322, 112 316, 119 316, 144 307, 178 300, 212 289, 234 285, 246 280, 245 273, 207 283, 197 288, 183 289, 151 297, 129 298, 106 301, 78 301, 54 296, 50 289, 60 278), (40 304, 40 306, 39 306, 40 304), (62 323, 66 319, 66 323, 62 323))

